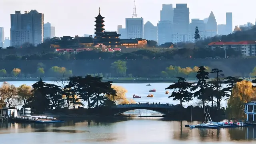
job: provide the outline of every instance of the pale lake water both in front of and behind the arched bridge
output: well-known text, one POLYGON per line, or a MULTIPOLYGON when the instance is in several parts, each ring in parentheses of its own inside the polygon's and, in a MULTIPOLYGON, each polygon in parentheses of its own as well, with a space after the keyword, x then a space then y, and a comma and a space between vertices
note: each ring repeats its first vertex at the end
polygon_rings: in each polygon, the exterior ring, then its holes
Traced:
MULTIPOLYGON (((9 82, 15 86, 32 85, 34 82, 9 82)), ((142 96, 137 102, 178 104, 165 94, 168 83, 124 84, 126 96, 142 96), (156 88, 154 98, 146 98, 148 90, 156 88)), ((197 100, 193 100, 191 104, 197 100)), ((222 102, 225 106, 226 102, 222 102)), ((189 104, 190 105, 190 104, 189 104)), ((11 124, 0 123, 3 144, 236 144, 256 143, 256 127, 226 129, 190 129, 190 122, 168 121, 164 118, 114 118, 98 120, 64 120, 62 124, 11 124)), ((193 122, 198 124, 200 122, 193 122)))

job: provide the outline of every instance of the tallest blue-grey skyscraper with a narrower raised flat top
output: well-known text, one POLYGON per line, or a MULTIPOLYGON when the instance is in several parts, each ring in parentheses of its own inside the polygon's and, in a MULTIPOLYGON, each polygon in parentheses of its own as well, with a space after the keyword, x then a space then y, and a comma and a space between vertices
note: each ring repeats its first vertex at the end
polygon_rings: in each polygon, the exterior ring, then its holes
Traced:
POLYGON ((174 34, 188 34, 189 32, 189 8, 188 4, 176 4, 173 15, 174 34))

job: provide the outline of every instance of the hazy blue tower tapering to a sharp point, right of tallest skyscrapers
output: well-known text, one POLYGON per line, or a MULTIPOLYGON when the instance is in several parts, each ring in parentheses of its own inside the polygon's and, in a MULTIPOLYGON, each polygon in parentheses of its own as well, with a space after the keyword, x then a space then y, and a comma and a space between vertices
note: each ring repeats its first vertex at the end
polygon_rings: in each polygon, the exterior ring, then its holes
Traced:
POLYGON ((208 37, 214 37, 217 35, 217 22, 213 12, 210 13, 206 23, 206 33, 208 37))

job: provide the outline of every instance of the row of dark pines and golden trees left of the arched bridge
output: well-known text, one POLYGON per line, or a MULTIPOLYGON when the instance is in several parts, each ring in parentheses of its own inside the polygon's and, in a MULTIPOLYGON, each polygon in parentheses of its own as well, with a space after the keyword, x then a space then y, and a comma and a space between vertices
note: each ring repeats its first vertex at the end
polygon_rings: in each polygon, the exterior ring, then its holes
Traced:
POLYGON ((57 84, 48 84, 42 79, 32 86, 23 84, 18 88, 4 84, 0 88, 0 100, 8 107, 17 106, 15 101, 20 102, 38 113, 54 108, 77 108, 84 106, 83 102, 88 103, 88 108, 134 103, 126 98, 127 90, 111 83, 102 82, 102 77, 87 75, 63 78, 57 84))

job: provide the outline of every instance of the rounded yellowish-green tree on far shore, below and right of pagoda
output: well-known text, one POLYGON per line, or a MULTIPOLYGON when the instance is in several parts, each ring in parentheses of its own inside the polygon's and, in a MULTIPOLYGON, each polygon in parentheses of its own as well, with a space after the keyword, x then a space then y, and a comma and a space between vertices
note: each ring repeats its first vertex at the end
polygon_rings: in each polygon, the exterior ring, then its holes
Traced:
POLYGON ((111 68, 116 72, 118 76, 126 76, 126 61, 118 60, 111 64, 111 68))

